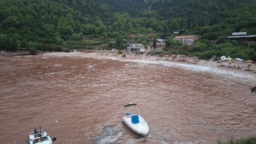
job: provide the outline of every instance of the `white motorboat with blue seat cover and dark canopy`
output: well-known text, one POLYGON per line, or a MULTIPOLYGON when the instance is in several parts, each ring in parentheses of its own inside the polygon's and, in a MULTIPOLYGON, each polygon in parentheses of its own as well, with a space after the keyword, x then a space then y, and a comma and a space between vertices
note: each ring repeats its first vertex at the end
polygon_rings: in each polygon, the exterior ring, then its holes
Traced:
POLYGON ((123 117, 124 123, 132 129, 135 133, 146 136, 148 133, 148 125, 146 121, 141 117, 137 104, 127 104, 124 106, 125 116, 123 117), (126 112, 127 107, 136 106, 135 113, 126 112))

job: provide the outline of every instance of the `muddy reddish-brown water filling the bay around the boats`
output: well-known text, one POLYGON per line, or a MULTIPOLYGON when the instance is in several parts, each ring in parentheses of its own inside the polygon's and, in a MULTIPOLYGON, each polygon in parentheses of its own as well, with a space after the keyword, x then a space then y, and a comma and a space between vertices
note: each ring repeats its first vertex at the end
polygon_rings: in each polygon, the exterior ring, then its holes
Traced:
POLYGON ((0 59, 0 143, 28 143, 41 126, 55 143, 216 143, 256 136, 250 79, 151 63, 85 57, 0 59), (137 103, 141 137, 122 122, 137 103))

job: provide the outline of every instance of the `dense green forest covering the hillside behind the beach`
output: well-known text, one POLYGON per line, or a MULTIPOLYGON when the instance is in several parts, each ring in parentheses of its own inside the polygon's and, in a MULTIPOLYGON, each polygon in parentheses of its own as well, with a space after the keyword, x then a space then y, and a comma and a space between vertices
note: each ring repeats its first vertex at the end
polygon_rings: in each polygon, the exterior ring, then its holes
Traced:
POLYGON ((253 0, 2 0, 0 7, 1 51, 123 50, 129 40, 146 46, 158 38, 167 41, 157 54, 256 61, 255 43, 227 41, 232 32, 256 34, 253 0), (199 40, 180 45, 176 31, 199 40))

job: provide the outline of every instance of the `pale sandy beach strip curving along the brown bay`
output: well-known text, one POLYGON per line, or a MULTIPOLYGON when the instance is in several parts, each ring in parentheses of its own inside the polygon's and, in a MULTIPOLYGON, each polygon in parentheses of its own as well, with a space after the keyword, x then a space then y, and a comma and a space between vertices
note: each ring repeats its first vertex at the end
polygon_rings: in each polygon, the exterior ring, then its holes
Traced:
POLYGON ((212 59, 210 61, 199 59, 195 61, 193 58, 188 58, 186 62, 177 62, 171 60, 170 57, 146 56, 136 54, 121 54, 111 53, 111 51, 86 51, 86 52, 52 52, 44 53, 43 56, 70 56, 70 57, 88 57, 97 59, 113 59, 123 62, 138 62, 138 63, 152 63, 162 64, 166 66, 175 66, 190 70, 202 71, 212 73, 220 76, 227 76, 230 78, 238 78, 256 82, 256 64, 251 64, 248 70, 246 63, 241 63, 236 60, 222 61, 217 63, 212 59))

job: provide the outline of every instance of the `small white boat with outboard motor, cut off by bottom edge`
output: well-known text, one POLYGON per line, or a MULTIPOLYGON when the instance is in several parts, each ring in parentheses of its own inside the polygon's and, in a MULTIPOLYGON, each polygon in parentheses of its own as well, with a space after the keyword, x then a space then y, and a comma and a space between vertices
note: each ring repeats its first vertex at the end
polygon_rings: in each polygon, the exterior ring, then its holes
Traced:
POLYGON ((29 133, 30 144, 35 144, 35 143, 49 144, 49 143, 53 143, 55 140, 56 138, 51 139, 45 130, 41 130, 41 126, 40 126, 40 131, 37 131, 37 127, 35 127, 34 132, 29 133))

